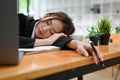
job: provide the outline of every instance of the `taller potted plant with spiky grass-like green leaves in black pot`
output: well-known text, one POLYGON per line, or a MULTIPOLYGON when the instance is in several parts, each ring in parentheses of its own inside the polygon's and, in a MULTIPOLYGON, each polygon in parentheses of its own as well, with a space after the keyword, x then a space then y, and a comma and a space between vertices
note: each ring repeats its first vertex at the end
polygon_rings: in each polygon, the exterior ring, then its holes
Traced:
POLYGON ((108 45, 111 33, 112 21, 109 20, 107 17, 102 18, 98 21, 98 31, 100 34, 100 44, 101 45, 108 45))

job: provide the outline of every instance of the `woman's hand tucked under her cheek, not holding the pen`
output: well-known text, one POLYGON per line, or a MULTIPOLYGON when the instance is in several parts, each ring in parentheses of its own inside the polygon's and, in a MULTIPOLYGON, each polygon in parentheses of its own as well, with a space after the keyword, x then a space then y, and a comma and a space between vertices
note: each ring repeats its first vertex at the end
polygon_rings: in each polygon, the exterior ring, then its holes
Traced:
POLYGON ((49 42, 50 45, 52 45, 58 38, 60 38, 61 36, 66 36, 66 34, 64 33, 54 33, 52 36, 50 36, 47 40, 49 42))

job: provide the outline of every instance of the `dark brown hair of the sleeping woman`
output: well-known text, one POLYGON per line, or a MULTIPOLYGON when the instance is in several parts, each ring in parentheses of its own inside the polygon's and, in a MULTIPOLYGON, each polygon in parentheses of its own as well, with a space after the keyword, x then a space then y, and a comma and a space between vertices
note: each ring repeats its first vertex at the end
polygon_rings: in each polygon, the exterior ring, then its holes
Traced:
POLYGON ((63 28, 62 32, 64 34, 71 35, 71 34, 73 34, 75 32, 75 27, 74 27, 74 25, 72 23, 72 19, 66 13, 64 13, 64 12, 47 13, 44 16, 44 18, 52 17, 52 16, 55 16, 55 18, 53 18, 53 19, 58 19, 63 23, 64 28, 63 28))

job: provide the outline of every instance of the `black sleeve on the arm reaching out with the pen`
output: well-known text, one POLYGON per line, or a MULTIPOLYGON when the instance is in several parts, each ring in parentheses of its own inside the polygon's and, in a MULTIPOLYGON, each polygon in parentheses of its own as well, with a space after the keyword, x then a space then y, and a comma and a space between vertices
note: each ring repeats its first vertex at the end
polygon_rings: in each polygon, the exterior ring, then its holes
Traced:
POLYGON ((71 40, 72 40, 71 37, 61 36, 52 45, 58 46, 63 50, 70 49, 66 46, 66 44, 69 43, 71 40))

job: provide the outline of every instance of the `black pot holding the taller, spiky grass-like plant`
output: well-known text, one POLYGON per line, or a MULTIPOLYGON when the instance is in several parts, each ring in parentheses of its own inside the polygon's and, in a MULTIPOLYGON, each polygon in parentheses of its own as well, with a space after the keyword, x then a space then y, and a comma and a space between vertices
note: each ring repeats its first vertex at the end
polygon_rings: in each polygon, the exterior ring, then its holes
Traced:
POLYGON ((101 35, 99 42, 100 45, 108 45, 110 40, 110 34, 101 35))

